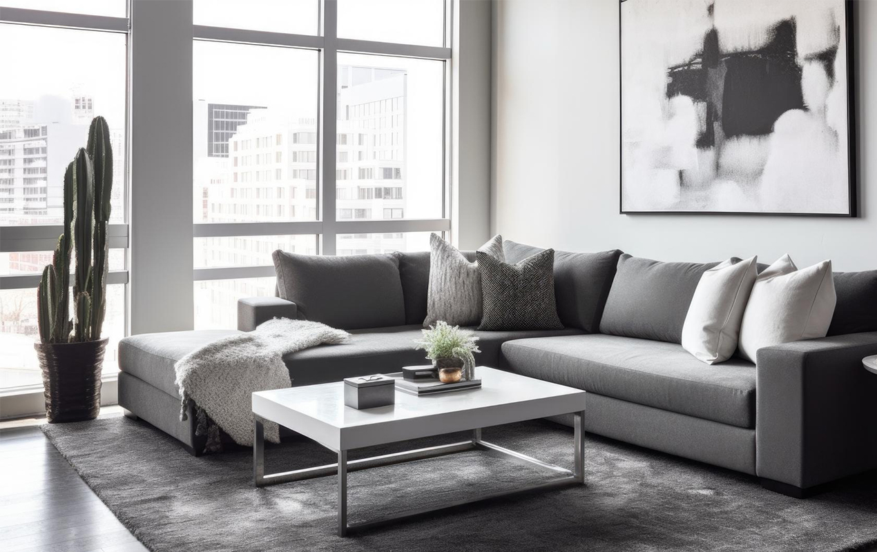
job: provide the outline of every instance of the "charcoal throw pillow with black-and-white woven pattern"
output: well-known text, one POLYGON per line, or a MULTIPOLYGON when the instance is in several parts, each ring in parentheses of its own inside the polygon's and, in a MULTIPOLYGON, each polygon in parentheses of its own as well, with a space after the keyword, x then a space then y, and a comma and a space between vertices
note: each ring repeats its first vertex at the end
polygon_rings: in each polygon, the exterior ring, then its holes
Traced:
POLYGON ((511 265, 478 251, 483 314, 478 329, 563 329, 554 301, 554 250, 511 265))

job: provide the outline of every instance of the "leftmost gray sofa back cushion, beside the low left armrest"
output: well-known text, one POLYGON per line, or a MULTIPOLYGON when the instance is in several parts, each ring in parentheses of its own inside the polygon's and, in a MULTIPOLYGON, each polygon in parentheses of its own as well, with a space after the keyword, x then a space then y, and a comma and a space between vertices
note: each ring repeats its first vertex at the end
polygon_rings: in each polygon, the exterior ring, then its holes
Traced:
POLYGON ((405 324, 399 260, 393 255, 322 257, 275 251, 277 288, 299 318, 339 329, 405 324))

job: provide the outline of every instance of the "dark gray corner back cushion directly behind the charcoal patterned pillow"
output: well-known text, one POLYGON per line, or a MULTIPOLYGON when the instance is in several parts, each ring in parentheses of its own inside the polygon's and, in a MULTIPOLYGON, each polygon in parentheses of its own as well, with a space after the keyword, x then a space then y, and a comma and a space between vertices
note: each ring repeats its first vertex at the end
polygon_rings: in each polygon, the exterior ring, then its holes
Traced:
MULTIPOLYGON (((503 251, 506 262, 514 265, 543 250, 505 240, 503 251)), ((617 249, 597 253, 554 251, 554 298, 565 327, 597 331, 620 256, 617 249)))

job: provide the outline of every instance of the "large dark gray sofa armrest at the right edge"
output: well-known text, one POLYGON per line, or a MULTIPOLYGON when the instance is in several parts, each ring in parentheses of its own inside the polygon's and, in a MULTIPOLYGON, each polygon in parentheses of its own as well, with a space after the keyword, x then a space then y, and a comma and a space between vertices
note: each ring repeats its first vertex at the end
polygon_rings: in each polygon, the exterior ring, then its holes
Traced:
POLYGON ((877 467, 877 332, 759 349, 756 473, 798 489, 877 467))

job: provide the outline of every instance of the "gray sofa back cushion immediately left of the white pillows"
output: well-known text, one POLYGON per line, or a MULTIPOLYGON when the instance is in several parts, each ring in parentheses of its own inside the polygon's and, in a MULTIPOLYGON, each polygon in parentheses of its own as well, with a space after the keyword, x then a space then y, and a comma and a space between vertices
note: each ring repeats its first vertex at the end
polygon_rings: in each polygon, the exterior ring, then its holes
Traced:
POLYGON ((618 258, 600 333, 682 343, 682 326, 703 272, 718 263, 618 258))

